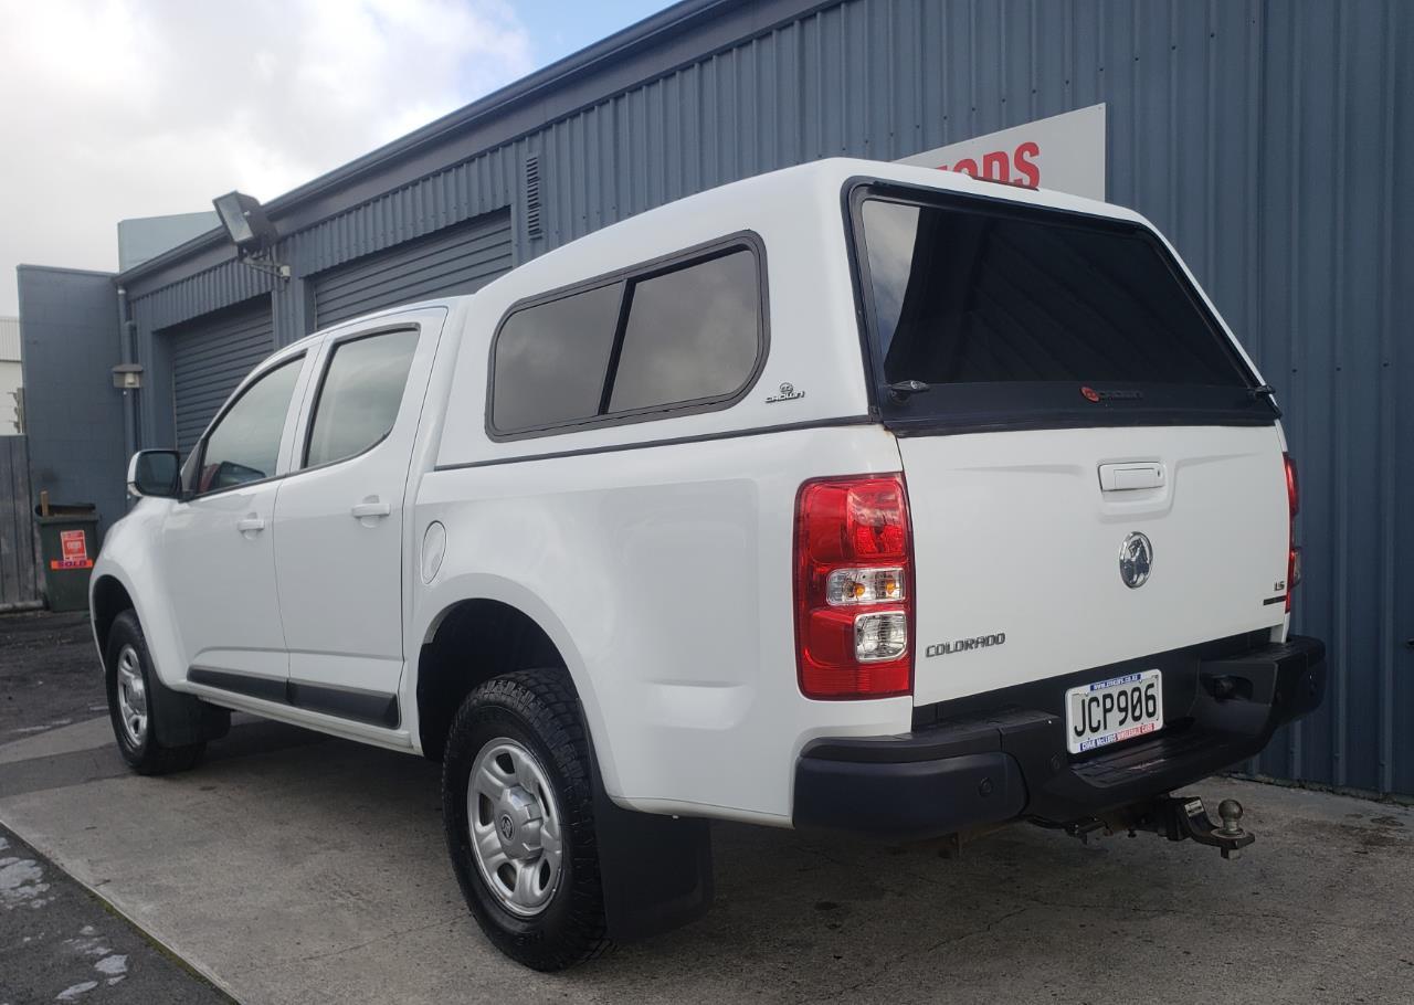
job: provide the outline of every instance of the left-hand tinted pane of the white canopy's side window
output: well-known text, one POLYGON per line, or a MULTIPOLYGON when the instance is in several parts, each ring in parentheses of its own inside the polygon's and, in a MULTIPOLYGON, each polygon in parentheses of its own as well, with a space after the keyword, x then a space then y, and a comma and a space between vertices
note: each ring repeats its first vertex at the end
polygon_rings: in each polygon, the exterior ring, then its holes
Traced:
POLYGON ((492 424, 530 430, 598 414, 624 284, 516 311, 496 336, 492 424))

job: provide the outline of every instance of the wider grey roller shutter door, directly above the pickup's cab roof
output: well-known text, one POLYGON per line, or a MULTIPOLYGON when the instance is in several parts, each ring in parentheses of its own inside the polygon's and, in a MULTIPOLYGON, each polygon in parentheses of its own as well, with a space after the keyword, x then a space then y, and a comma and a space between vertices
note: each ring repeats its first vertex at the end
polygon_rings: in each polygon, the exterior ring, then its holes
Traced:
POLYGON ((320 328, 430 297, 475 293, 510 269, 510 212, 488 213, 314 277, 320 328))

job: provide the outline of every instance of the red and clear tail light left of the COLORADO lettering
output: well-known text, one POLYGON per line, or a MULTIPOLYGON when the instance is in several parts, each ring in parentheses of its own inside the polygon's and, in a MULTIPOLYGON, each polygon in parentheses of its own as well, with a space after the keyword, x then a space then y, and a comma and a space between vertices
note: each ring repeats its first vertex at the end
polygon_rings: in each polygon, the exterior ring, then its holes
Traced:
POLYGON ((913 544, 902 475, 802 485, 795 561, 800 693, 911 694, 913 544))

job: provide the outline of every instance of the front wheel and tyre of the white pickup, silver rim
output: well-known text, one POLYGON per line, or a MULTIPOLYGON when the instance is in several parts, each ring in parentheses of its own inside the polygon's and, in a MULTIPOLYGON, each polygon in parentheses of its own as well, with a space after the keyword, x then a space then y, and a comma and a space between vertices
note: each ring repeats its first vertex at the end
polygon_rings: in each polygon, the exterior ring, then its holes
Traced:
POLYGON ((124 611, 113 619, 103 663, 109 718, 123 760, 139 775, 168 775, 195 768, 206 751, 205 742, 163 745, 163 722, 157 714, 163 707, 157 700, 161 681, 153 669, 136 612, 124 611))

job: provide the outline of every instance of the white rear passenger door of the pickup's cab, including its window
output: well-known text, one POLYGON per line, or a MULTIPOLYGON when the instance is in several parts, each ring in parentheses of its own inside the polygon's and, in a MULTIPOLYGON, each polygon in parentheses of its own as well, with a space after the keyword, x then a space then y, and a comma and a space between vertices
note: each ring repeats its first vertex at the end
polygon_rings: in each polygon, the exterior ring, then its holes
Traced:
POLYGON ((400 721, 409 458, 447 311, 335 331, 276 505, 276 580, 290 700, 382 727, 400 721))

